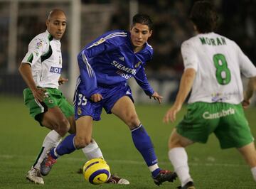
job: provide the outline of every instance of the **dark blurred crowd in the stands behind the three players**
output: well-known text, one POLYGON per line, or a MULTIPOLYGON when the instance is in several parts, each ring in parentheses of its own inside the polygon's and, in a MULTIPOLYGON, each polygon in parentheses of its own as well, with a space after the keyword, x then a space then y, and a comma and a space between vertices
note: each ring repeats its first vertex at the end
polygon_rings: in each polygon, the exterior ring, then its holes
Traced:
MULTIPOLYGON (((15 0, 14 0, 15 1, 15 0)), ((140 13, 147 13, 154 21, 149 44, 154 48, 154 58, 146 65, 150 77, 180 77, 183 71, 181 43, 193 36, 193 25, 188 19, 195 1, 188 0, 82 0, 80 48, 105 31, 129 30, 132 6, 140 13), (154 75, 152 73, 154 72, 154 75)), ((256 1, 215 0, 218 11, 217 33, 233 39, 256 65, 256 1)), ((28 43, 38 33, 46 30, 46 16, 50 9, 60 8, 70 15, 68 1, 18 1, 16 21, 16 55, 10 70, 10 1, 0 0, 0 88, 3 75, 8 79, 17 74, 18 65, 27 52, 28 43)), ((70 21, 68 21, 70 24, 70 21)), ((69 28, 62 39, 64 72, 70 68, 69 28)), ((17 76, 18 77, 18 76, 17 76)), ((19 78, 19 77, 18 77, 19 78)), ((0 90, 0 94, 3 91, 0 90)))

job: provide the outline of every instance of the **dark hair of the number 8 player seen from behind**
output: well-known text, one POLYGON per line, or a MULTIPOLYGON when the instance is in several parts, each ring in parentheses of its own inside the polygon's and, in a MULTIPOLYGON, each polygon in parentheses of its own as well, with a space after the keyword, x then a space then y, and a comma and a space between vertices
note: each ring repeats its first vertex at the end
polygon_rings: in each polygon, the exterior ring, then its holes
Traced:
POLYGON ((191 9, 190 18, 199 33, 212 32, 217 26, 217 12, 209 1, 196 1, 191 9))

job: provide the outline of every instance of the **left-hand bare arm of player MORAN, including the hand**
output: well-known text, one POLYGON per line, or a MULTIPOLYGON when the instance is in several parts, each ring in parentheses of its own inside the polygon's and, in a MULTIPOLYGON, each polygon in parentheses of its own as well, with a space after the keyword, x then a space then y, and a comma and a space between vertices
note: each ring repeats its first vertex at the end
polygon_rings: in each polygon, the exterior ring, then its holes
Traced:
POLYGON ((178 90, 178 95, 174 102, 174 105, 166 112, 164 116, 164 123, 169 123, 169 121, 174 122, 176 120, 176 114, 181 110, 181 107, 188 97, 188 93, 191 91, 193 80, 196 77, 196 70, 193 68, 188 68, 183 72, 181 77, 181 83, 178 90))

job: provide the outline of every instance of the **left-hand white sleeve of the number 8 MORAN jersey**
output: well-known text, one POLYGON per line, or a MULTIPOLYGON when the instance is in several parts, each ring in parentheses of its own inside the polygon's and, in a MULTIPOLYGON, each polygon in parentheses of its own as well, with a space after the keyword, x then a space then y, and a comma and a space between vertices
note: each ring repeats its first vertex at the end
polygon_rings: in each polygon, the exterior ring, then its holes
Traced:
POLYGON ((193 68, 196 71, 198 70, 198 58, 193 48, 194 47, 189 41, 184 41, 181 45, 181 55, 185 70, 188 68, 193 68))

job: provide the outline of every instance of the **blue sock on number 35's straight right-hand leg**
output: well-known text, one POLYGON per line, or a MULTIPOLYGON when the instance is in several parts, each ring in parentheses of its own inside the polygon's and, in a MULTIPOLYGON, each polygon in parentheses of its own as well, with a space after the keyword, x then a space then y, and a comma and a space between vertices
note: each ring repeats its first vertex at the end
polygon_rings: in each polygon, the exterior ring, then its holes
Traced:
MULTIPOLYGON (((153 166, 157 163, 156 154, 154 153, 153 144, 146 130, 140 124, 137 128, 132 130, 132 140, 137 150, 142 154, 146 165, 153 166)), ((158 168, 152 172, 152 175, 157 175, 160 169, 158 168)))

